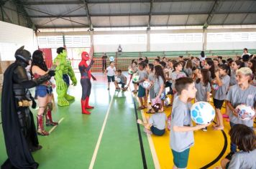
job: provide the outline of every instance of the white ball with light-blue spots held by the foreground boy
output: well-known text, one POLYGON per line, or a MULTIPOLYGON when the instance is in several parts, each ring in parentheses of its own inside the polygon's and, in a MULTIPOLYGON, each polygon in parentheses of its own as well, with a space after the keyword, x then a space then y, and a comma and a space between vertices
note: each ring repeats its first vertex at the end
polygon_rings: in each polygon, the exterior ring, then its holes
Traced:
POLYGON ((191 107, 191 119, 198 125, 206 125, 214 120, 215 110, 209 102, 196 102, 191 107))

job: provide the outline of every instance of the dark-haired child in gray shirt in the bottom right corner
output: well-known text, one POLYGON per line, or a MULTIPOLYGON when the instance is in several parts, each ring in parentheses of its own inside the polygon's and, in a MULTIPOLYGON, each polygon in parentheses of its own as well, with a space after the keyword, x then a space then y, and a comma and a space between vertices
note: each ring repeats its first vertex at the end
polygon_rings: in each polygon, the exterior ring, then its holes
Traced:
POLYGON ((246 125, 234 125, 229 131, 231 142, 238 145, 239 152, 221 160, 221 167, 227 169, 254 169, 256 168, 256 136, 254 131, 246 125))

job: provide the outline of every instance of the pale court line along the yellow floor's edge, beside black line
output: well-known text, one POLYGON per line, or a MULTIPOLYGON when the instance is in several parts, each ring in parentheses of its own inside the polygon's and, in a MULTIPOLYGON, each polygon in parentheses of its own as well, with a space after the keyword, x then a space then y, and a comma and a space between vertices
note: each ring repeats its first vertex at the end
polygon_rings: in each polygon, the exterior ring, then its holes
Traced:
MULTIPOLYGON (((139 98, 138 97, 136 97, 136 98, 137 98, 137 102, 139 102, 139 104, 140 104, 139 98)), ((144 110, 140 110, 140 113, 142 114, 143 122, 147 122, 144 110)), ((154 143, 153 143, 153 140, 152 140, 152 137, 151 137, 150 134, 147 134, 147 140, 148 140, 148 143, 150 145, 150 151, 151 151, 151 154, 152 154, 155 169, 160 169, 160 163, 159 163, 159 160, 157 158, 157 153, 155 152, 155 146, 154 146, 154 143)))

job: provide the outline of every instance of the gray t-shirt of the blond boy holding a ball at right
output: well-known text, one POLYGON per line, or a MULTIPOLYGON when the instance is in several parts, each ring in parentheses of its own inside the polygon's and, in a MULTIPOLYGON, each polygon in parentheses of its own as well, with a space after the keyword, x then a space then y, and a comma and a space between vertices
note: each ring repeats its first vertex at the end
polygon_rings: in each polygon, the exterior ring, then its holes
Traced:
MULTIPOLYGON (((238 84, 235 84, 230 87, 226 100, 229 101, 234 108, 241 104, 254 107, 256 102, 256 87, 250 85, 246 90, 242 90, 238 84)), ((234 124, 243 124, 248 127, 253 126, 253 120, 239 120, 233 115, 232 110, 229 110, 229 120, 234 124)))

